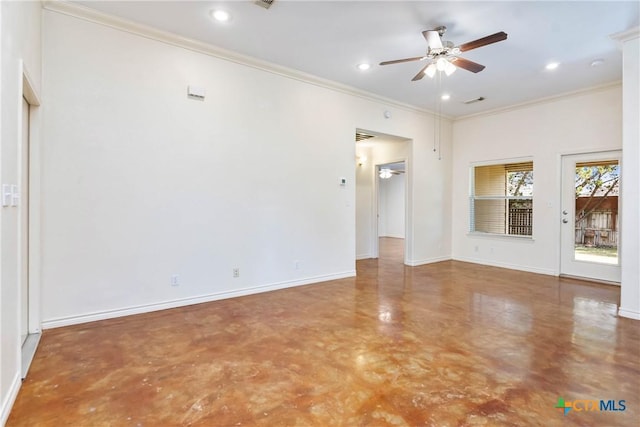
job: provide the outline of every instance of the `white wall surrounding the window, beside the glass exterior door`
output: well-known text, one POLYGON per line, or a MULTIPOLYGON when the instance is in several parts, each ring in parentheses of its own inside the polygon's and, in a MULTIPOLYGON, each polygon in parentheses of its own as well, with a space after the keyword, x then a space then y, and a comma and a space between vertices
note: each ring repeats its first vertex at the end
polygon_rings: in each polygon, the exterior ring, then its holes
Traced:
POLYGON ((559 274, 561 155, 622 148, 621 93, 616 85, 454 122, 453 257, 559 274), (534 162, 533 240, 469 235, 470 165, 521 157, 534 162))

